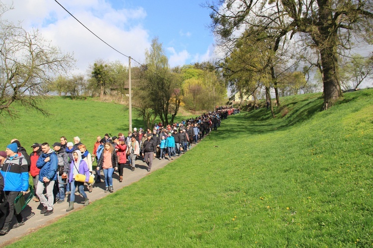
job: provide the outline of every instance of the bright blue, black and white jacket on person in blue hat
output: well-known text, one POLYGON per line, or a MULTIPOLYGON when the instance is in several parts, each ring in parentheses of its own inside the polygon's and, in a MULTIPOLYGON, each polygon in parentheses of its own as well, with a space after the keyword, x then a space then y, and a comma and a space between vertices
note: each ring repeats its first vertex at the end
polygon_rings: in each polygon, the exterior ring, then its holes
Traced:
POLYGON ((7 157, 2 165, 4 191, 27 191, 28 189, 27 160, 22 154, 18 154, 11 158, 7 157))

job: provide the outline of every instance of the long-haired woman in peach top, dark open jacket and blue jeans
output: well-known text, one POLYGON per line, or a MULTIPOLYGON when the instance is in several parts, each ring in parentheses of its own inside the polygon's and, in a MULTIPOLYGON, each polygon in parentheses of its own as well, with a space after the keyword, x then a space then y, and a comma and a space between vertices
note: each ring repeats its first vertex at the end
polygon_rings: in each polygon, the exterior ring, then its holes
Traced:
POLYGON ((118 170, 118 158, 114 147, 110 142, 105 142, 104 150, 97 162, 97 171, 103 169, 104 181, 105 181, 105 192, 113 192, 113 172, 114 169, 118 170))

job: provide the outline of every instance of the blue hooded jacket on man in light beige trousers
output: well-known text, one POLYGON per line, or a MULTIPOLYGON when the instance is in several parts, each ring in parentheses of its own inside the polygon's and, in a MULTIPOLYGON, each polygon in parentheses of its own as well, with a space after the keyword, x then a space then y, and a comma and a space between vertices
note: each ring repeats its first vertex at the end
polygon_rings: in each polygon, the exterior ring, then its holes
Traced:
POLYGON ((42 153, 36 162, 36 167, 40 169, 39 181, 44 183, 43 178, 46 177, 51 181, 57 180, 57 167, 58 158, 56 153, 49 148, 47 153, 42 153), (50 160, 45 162, 44 160, 49 157, 50 160))

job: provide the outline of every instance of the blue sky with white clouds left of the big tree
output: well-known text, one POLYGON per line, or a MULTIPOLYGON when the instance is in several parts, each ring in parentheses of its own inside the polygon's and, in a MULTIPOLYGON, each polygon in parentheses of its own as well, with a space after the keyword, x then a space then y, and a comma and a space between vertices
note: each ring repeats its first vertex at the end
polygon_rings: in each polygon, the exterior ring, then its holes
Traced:
MULTIPOLYGON (((146 49, 158 37, 171 67, 210 61, 214 38, 208 29, 205 0, 57 0, 94 34, 135 61, 144 63, 146 49)), ((2 0, 13 4, 3 19, 20 22, 26 30, 38 29, 64 53, 74 53, 76 73, 87 73, 101 59, 128 58, 117 53, 83 27, 55 0, 2 0)), ((138 65, 131 62, 132 66, 138 65)))

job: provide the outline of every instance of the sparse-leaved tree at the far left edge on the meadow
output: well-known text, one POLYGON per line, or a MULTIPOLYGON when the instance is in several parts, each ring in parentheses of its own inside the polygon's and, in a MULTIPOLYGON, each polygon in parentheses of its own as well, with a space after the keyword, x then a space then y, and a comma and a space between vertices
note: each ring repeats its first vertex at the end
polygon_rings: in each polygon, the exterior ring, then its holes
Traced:
POLYGON ((55 75, 67 73, 74 62, 37 30, 27 32, 0 20, 0 115, 13 117, 14 102, 47 115, 38 99, 46 95, 55 75))

